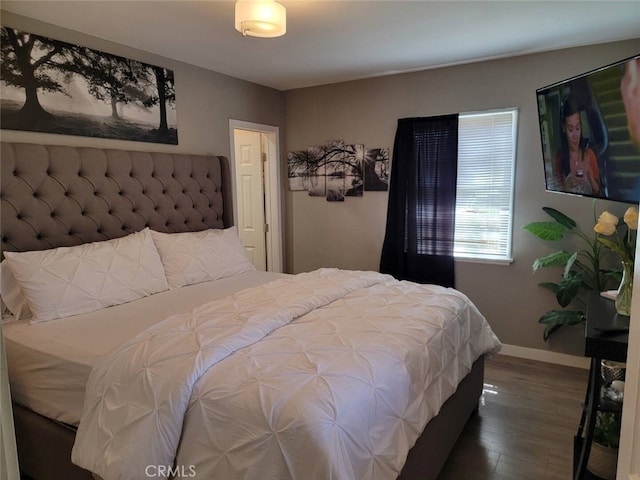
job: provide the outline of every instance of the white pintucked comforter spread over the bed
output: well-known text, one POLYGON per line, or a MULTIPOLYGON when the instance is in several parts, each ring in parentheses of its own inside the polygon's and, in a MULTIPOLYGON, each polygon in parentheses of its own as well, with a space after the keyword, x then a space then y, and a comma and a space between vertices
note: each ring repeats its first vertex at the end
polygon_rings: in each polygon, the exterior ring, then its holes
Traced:
POLYGON ((452 289, 335 269, 276 280, 110 354, 72 459, 105 480, 394 479, 471 364, 499 348, 452 289))

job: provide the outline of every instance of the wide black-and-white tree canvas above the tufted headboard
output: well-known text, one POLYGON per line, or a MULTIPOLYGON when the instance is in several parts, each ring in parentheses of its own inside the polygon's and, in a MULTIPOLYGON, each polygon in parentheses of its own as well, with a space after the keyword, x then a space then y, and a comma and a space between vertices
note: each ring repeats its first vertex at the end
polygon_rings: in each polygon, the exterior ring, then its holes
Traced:
POLYGON ((3 129, 178 144, 172 70, 1 31, 3 129))

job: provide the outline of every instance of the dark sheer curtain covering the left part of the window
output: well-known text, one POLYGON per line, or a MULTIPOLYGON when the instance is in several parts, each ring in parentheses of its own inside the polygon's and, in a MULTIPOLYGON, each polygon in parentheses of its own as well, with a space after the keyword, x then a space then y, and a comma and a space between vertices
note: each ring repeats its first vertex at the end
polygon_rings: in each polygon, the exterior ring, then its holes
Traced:
POLYGON ((399 119, 392 162, 380 271, 453 287, 458 115, 399 119))

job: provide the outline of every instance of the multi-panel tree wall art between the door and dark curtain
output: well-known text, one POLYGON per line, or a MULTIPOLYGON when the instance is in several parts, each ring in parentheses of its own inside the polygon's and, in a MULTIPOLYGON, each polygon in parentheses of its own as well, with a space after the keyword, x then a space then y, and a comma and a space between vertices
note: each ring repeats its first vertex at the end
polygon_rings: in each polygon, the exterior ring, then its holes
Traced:
POLYGON ((389 189, 389 149, 365 148, 343 140, 287 154, 289 190, 343 202, 365 191, 389 189))

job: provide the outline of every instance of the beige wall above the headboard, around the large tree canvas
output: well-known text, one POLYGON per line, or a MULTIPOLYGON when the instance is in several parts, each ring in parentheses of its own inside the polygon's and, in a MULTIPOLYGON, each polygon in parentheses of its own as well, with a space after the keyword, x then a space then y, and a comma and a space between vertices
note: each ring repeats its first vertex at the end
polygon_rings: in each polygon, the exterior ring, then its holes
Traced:
POLYGON ((124 45, 2 12, 2 25, 91 47, 174 71, 178 145, 162 145, 2 130, 2 140, 126 148, 159 152, 230 155, 229 119, 273 125, 284 123, 283 93, 124 45))

